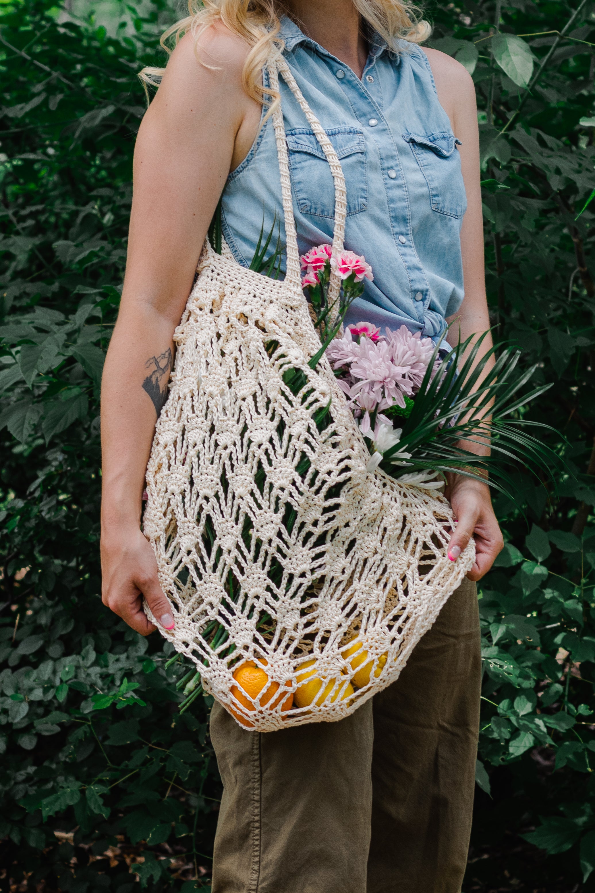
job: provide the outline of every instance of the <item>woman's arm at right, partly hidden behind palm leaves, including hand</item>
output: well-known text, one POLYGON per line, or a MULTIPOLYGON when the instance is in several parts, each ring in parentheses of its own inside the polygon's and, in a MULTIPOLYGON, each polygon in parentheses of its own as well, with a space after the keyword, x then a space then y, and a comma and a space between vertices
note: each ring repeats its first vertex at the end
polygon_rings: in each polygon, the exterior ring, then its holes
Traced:
MULTIPOLYGON (((462 143, 459 147, 460 161, 467 192, 467 212, 460 234, 465 297, 459 311, 447 320, 450 323, 447 337, 449 343, 455 346, 459 337, 464 341, 490 329, 483 271, 483 213, 475 87, 467 70, 450 56, 431 49, 426 49, 426 54, 434 73, 438 98, 450 117, 455 136, 462 143)), ((476 362, 491 346, 492 337, 488 335, 483 339, 476 362)), ((493 361, 489 360, 486 371, 492 365, 493 361)), ((465 440, 459 446, 477 455, 490 452, 489 445, 482 443, 481 439, 475 442, 465 440)), ((450 480, 447 496, 459 519, 457 530, 450 538, 449 557, 456 561, 469 538, 474 536, 475 564, 467 576, 471 580, 480 580, 490 570, 504 545, 492 509, 490 488, 481 481, 456 475, 450 480)))

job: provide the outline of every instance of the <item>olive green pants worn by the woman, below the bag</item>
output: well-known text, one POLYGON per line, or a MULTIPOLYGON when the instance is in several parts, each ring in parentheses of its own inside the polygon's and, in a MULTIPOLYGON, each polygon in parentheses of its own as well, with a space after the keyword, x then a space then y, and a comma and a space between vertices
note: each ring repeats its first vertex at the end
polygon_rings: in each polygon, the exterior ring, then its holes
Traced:
POLYGON ((480 676, 464 580, 399 679, 341 722, 251 732, 215 703, 213 893, 459 893, 480 676))

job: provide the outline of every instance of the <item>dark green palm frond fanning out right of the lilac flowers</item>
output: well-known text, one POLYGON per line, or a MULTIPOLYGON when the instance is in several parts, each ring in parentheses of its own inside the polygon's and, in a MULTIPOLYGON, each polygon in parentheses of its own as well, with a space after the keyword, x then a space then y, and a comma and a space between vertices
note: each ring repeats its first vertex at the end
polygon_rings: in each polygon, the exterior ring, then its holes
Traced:
MULTIPOLYGON (((458 473, 475 480, 488 478, 493 488, 515 502, 509 473, 515 465, 521 464, 533 473, 546 472, 554 484, 568 472, 563 458, 542 437, 554 430, 541 421, 519 416, 522 407, 551 385, 541 384, 525 391, 537 366, 519 372, 516 367, 521 354, 512 346, 500 346, 500 355, 491 347, 477 360, 486 335, 484 332, 473 345, 473 337, 459 339, 435 374, 434 363, 428 366, 413 410, 403 420, 399 443, 384 453, 379 466, 384 472, 396 478, 416 471, 458 473), (459 356, 467 350, 465 360, 458 364, 459 356), (492 357, 492 369, 486 369, 492 357), (472 449, 490 447, 490 455, 476 455, 464 448, 466 442, 472 449), (400 453, 409 453, 410 458, 401 463, 400 453)), ((434 360, 438 350, 437 347, 434 360)))

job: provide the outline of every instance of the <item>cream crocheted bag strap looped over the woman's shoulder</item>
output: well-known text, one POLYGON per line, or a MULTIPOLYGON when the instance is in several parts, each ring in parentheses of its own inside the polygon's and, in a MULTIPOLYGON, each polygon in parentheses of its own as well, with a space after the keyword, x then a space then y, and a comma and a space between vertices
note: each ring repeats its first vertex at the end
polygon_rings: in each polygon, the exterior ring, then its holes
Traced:
MULTIPOLYGON (((279 89, 278 75, 281 74, 287 87, 295 96, 302 112, 310 123, 310 127, 314 131, 314 135, 318 139, 322 151, 326 156, 333 179, 335 181, 335 226, 333 230, 333 257, 337 257, 343 251, 343 239, 345 238, 345 217, 347 215, 347 190, 345 188, 345 178, 343 176, 343 168, 335 152, 335 146, 331 143, 326 135, 326 130, 318 121, 316 115, 310 109, 310 105, 302 96, 302 91, 298 87, 289 65, 281 54, 278 54, 271 62, 269 62, 269 81, 270 86, 279 89)), ((281 176, 281 196, 283 198, 283 213, 285 217, 285 238, 287 252, 287 271, 285 279, 293 285, 301 288, 302 273, 300 270, 300 252, 297 244, 297 232, 295 230, 295 218, 293 217, 293 197, 292 183, 289 176, 289 160, 287 157, 287 139, 285 136, 285 125, 283 122, 283 110, 281 104, 277 104, 277 108, 273 113, 273 127, 275 129, 275 138, 277 142, 277 157, 279 160, 279 173, 281 176)), ((331 270, 331 277, 328 283, 328 303, 334 305, 339 296, 341 288, 341 277, 335 270, 331 270)), ((335 313, 331 314, 333 317, 335 313)))

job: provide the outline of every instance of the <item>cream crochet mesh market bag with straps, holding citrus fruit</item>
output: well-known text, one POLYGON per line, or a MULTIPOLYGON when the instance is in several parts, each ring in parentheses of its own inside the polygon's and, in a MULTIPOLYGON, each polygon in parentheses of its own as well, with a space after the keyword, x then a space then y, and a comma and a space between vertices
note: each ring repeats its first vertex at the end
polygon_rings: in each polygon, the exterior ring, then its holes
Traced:
MULTIPOLYGON (((269 65, 273 89, 277 72, 335 179, 337 255, 346 210, 341 164, 281 56, 269 65)), ((326 357, 316 371, 308 365, 320 341, 301 287, 278 106, 273 124, 286 277, 247 270, 226 246, 218 255, 205 241, 174 335, 176 363, 155 430, 144 515, 176 620, 171 631, 158 625, 161 635, 196 663, 206 691, 259 731, 343 719, 390 685, 475 555, 471 542, 449 561, 452 513, 443 497, 366 471, 368 448, 326 357), (284 375, 289 370, 301 371, 299 389, 286 383, 295 380, 284 375), (325 424, 317 424, 326 407, 325 424), (352 657, 343 651, 354 638, 372 672, 351 695, 352 657), (312 672, 313 659, 325 680, 318 700, 284 712, 285 692, 308 672, 304 663, 312 672), (240 704, 232 693, 244 660, 266 666, 264 706, 247 695, 240 704), (284 689, 277 700, 273 683, 284 689)), ((339 285, 334 276, 331 301, 339 285)))

